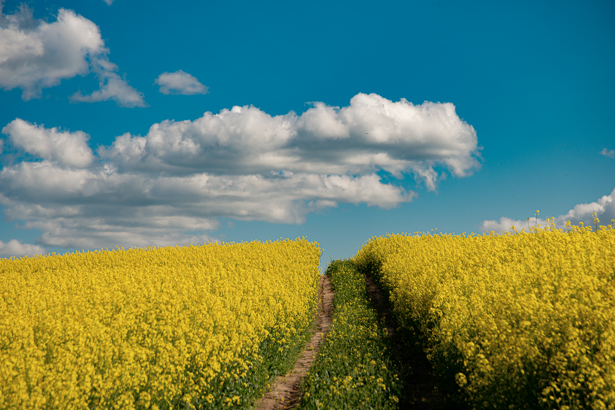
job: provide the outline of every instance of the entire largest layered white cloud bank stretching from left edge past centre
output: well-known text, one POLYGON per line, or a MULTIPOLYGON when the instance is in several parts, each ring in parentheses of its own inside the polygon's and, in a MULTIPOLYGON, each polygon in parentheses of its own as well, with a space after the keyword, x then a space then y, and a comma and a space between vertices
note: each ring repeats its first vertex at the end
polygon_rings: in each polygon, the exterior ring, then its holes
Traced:
POLYGON ((389 209, 416 193, 383 171, 435 190, 446 172, 480 167, 476 132, 453 104, 376 94, 303 115, 245 106, 162 121, 95 153, 81 131, 15 119, 2 132, 33 156, 0 171, 4 215, 41 230, 46 246, 202 242, 220 217, 302 223, 339 202, 389 209))

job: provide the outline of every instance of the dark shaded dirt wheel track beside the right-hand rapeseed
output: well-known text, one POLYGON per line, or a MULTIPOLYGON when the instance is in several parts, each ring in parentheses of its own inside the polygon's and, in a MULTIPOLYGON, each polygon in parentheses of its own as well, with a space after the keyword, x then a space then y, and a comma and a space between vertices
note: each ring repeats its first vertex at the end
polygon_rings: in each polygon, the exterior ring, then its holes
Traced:
POLYGON ((431 364, 427 361, 423 352, 410 352, 400 340, 395 338, 395 324, 389 310, 389 303, 380 291, 375 281, 369 275, 365 275, 365 284, 370 295, 373 308, 378 312, 389 336, 392 337, 392 350, 399 362, 400 371, 403 372, 405 387, 400 399, 401 409, 432 409, 453 410, 450 403, 444 401, 442 393, 434 392, 434 376, 431 373, 431 364))

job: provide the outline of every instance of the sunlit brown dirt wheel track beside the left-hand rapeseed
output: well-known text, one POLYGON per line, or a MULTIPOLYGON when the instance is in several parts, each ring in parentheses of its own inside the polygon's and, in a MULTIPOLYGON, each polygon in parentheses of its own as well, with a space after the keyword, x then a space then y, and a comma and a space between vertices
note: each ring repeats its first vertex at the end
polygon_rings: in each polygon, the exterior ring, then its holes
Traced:
POLYGON ((303 349, 303 352, 300 353, 295 368, 284 376, 277 377, 269 393, 255 403, 255 409, 294 409, 297 406, 301 379, 306 376, 306 371, 312 366, 312 362, 318 355, 320 340, 327 335, 332 314, 333 290, 331 289, 331 281, 328 276, 320 276, 318 316, 312 328, 314 335, 312 335, 312 339, 303 349))

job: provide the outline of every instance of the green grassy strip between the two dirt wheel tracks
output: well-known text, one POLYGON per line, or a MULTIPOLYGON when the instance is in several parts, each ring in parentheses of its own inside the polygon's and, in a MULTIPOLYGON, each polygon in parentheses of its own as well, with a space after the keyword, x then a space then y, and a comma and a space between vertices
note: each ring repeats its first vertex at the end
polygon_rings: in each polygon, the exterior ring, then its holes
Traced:
POLYGON ((335 291, 330 331, 301 386, 303 409, 397 409, 400 381, 390 340, 349 260, 327 268, 335 291))

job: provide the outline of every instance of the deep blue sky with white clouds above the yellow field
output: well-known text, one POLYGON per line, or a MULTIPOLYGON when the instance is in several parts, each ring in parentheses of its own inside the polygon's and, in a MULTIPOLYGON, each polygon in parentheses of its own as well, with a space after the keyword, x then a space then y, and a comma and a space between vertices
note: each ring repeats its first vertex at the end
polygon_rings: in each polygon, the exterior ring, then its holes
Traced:
POLYGON ((615 218, 612 1, 20 4, 0 256, 615 218))

